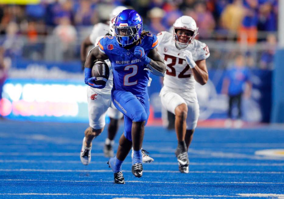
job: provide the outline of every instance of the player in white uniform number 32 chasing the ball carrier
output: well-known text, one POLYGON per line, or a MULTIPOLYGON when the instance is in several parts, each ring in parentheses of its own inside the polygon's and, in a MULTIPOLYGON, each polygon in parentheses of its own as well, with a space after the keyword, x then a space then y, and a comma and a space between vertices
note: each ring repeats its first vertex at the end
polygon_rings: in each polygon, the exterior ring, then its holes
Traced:
POLYGON ((180 172, 188 173, 188 147, 199 116, 195 82, 206 84, 205 59, 210 54, 207 45, 195 39, 198 27, 190 16, 178 18, 173 30, 174 34, 165 31, 157 34, 158 51, 167 65, 160 97, 162 105, 175 114, 178 141, 175 154, 180 172))

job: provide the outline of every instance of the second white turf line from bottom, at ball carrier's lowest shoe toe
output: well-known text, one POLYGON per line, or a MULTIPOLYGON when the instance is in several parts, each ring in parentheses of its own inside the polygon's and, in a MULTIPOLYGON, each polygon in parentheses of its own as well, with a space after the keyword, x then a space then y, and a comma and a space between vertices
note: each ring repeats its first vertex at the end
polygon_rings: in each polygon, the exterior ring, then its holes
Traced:
MULTIPOLYGON (((0 181, 40 181, 40 182, 75 182, 75 183, 109 183, 113 181, 94 181, 94 180, 37 180, 37 179, 0 179, 0 181)), ((159 181, 125 181, 128 183, 165 183, 165 184, 284 184, 273 182, 159 182, 159 181)))

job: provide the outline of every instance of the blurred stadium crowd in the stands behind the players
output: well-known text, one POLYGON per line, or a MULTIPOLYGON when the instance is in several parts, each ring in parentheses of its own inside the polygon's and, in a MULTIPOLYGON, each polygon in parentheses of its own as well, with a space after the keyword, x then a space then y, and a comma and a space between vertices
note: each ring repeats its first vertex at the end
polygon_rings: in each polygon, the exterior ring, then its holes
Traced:
MULTIPOLYGON (((272 46, 268 51, 253 55, 246 50, 246 53, 248 58, 254 56, 261 68, 272 67, 277 0, 43 0, 37 5, 3 4, 0 44, 5 56, 57 61, 78 58, 79 44, 93 24, 107 23, 110 11, 117 5, 141 13, 145 29, 154 34, 171 32, 178 17, 189 15, 198 24, 200 40, 233 41, 247 46, 268 43, 272 46)), ((214 48, 210 49, 214 60, 209 68, 227 67, 227 62, 218 56, 228 49, 218 49, 216 53, 214 48)))

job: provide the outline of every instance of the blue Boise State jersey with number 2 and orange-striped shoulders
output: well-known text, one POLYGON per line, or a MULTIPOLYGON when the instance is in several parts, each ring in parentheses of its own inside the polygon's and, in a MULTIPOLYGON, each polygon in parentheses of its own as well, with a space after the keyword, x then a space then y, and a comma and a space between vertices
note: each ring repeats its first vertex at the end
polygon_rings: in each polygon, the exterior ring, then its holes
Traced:
POLYGON ((141 44, 130 49, 122 48, 115 37, 106 36, 99 42, 100 52, 106 54, 113 69, 114 90, 128 91, 133 94, 147 91, 149 71, 146 65, 134 56, 134 49, 140 46, 147 56, 149 51, 156 48, 158 40, 155 34, 147 34, 141 44))

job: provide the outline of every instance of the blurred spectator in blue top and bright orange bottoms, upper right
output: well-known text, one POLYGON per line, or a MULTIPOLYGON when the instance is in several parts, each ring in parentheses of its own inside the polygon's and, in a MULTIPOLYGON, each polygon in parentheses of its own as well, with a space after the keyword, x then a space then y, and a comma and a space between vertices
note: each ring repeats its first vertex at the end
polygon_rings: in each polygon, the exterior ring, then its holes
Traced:
POLYGON ((244 0, 245 16, 239 31, 241 43, 255 44, 257 41, 258 0, 244 0))

